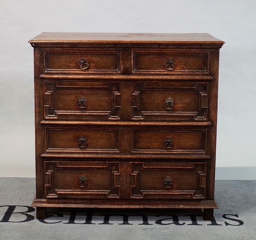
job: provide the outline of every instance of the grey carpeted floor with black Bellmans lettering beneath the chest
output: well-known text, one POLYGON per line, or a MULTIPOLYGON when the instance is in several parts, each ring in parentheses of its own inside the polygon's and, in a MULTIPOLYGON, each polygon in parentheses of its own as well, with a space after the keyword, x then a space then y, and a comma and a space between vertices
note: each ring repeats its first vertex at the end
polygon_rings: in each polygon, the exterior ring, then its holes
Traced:
POLYGON ((157 209, 48 209, 49 218, 40 222, 34 208, 29 207, 34 195, 35 179, 0 178, 1 240, 256 239, 256 180, 216 181, 215 198, 220 208, 215 210, 214 222, 204 221, 201 211, 157 209), (112 214, 125 215, 109 217, 112 214), (142 215, 123 221, 133 214, 142 215))

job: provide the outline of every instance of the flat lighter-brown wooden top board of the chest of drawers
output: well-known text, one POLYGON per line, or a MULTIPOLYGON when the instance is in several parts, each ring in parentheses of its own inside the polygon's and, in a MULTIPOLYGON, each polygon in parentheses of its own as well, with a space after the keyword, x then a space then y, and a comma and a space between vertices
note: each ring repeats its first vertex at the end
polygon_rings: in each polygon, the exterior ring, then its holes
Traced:
POLYGON ((42 32, 29 43, 224 44, 224 41, 208 33, 42 32))

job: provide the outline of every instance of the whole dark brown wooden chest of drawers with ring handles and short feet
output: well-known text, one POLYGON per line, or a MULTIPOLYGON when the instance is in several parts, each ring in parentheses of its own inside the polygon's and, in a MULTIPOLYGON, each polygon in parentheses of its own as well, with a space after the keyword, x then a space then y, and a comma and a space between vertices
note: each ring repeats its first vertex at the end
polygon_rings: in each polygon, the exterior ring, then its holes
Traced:
POLYGON ((223 41, 42 33, 29 43, 38 218, 78 207, 202 208, 212 219, 223 41))

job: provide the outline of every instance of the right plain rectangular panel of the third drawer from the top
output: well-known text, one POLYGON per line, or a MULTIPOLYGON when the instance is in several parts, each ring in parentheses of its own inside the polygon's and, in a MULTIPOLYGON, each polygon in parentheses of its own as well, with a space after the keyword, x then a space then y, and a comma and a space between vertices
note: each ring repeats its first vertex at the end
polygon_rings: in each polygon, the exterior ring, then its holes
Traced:
POLYGON ((205 153, 207 129, 134 129, 133 153, 205 153))

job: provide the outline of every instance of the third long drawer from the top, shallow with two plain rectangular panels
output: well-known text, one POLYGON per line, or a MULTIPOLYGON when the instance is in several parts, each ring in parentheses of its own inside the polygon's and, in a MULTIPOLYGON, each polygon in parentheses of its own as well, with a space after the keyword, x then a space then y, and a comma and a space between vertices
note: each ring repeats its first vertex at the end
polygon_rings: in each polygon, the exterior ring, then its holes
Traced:
POLYGON ((205 154, 207 128, 46 126, 45 153, 205 154))

